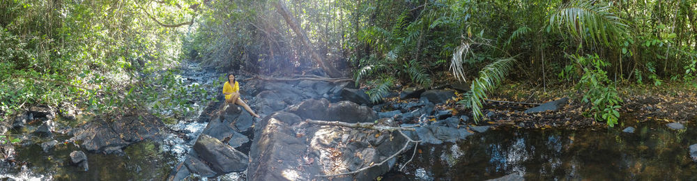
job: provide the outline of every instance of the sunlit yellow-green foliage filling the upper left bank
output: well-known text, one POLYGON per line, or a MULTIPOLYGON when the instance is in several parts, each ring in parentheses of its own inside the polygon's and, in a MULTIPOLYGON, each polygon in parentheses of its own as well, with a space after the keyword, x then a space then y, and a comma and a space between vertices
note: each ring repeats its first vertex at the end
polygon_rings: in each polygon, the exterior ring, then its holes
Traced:
POLYGON ((181 29, 160 23, 190 19, 196 2, 163 2, 0 3, 0 121, 33 104, 118 110, 139 73, 174 67, 179 56, 181 29))

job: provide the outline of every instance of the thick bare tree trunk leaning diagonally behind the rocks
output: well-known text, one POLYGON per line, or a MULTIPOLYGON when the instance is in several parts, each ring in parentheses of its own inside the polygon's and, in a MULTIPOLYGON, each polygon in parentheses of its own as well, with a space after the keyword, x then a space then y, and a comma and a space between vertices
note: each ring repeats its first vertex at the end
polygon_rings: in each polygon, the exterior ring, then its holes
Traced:
POLYGON ((298 21, 296 20, 293 15, 289 12, 288 8, 286 8, 286 4, 283 2, 283 0, 276 1, 273 3, 273 5, 276 7, 276 10, 278 10, 278 13, 283 16, 283 19, 286 19, 286 23, 288 26, 291 26, 291 29, 296 32, 296 34, 300 37, 300 42, 302 42, 302 45, 307 48, 309 51, 310 55, 312 56, 312 59, 319 64, 319 66, 324 70, 324 72, 327 72, 329 77, 342 77, 341 72, 334 68, 332 65, 329 65, 319 54, 317 54, 316 50, 312 46, 312 42, 309 41, 309 38, 307 38, 307 35, 305 35, 305 31, 302 31, 300 29, 300 26, 298 26, 298 21))

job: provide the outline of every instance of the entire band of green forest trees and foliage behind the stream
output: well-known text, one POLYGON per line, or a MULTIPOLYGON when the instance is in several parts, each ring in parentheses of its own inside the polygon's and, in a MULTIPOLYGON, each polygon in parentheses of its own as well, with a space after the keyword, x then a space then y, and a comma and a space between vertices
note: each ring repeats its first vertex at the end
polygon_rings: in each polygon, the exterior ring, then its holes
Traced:
POLYGON ((464 81, 475 120, 505 80, 574 86, 611 126, 618 84, 697 86, 694 0, 1 2, 3 118, 27 104, 158 100, 144 82, 182 60, 352 77, 375 102, 401 85, 464 81))

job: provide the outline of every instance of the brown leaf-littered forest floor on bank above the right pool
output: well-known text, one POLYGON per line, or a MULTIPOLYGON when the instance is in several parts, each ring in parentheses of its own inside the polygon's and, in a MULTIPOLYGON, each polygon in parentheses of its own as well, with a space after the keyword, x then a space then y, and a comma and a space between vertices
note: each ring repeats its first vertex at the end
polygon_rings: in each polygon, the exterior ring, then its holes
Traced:
MULTIPOLYGON (((666 83, 663 86, 627 84, 618 86, 618 93, 624 101, 620 109, 620 121, 615 127, 620 129, 636 123, 655 121, 658 123, 689 124, 697 118, 697 88, 682 82, 666 83)), ((604 129, 604 121, 595 121, 588 112, 589 104, 581 100, 581 94, 569 86, 531 86, 507 82, 489 100, 507 102, 545 103, 569 97, 569 103, 558 111, 544 113, 523 113, 526 109, 536 107, 534 104, 514 104, 500 102, 484 103, 484 119, 479 123, 472 120, 470 125, 493 125, 516 128, 564 128, 564 129, 604 129), (491 113, 489 113, 491 111, 491 113)), ((461 100, 458 95, 456 100, 461 100)), ((439 105, 438 110, 454 110, 457 115, 471 117, 471 111, 449 100, 439 105)))

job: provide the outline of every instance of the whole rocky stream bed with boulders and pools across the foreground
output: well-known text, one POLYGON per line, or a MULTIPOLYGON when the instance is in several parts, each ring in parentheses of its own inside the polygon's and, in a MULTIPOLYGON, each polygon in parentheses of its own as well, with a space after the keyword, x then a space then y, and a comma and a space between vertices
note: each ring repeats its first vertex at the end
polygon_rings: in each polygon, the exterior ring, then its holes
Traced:
MULTIPOLYGON (((187 83, 210 85, 209 91, 219 92, 220 74, 196 63, 185 63, 182 69, 187 83)), ((392 93, 392 101, 373 104, 352 81, 236 76, 243 99, 262 118, 222 104, 222 95, 213 95, 217 102, 197 104, 196 116, 172 124, 129 111, 71 127, 61 120, 79 120, 77 109, 32 107, 13 123, 0 125, 0 133, 21 139, 0 148, 0 179, 694 179, 697 145, 689 143, 697 143, 692 136, 697 133, 691 125, 629 120, 627 126, 633 127, 622 133, 516 129, 475 124, 463 113, 445 109, 443 104, 462 91, 458 86, 405 88, 392 93), (414 130, 401 134, 307 120, 414 130), (680 169, 663 175, 652 170, 658 166, 680 169), (615 174, 592 175, 603 167, 615 174), (351 172, 356 173, 342 175, 351 172)), ((201 97, 209 98, 213 97, 201 97)), ((561 99, 521 112, 555 111, 565 104, 561 99)), ((496 111, 487 116, 498 117, 496 111)))

